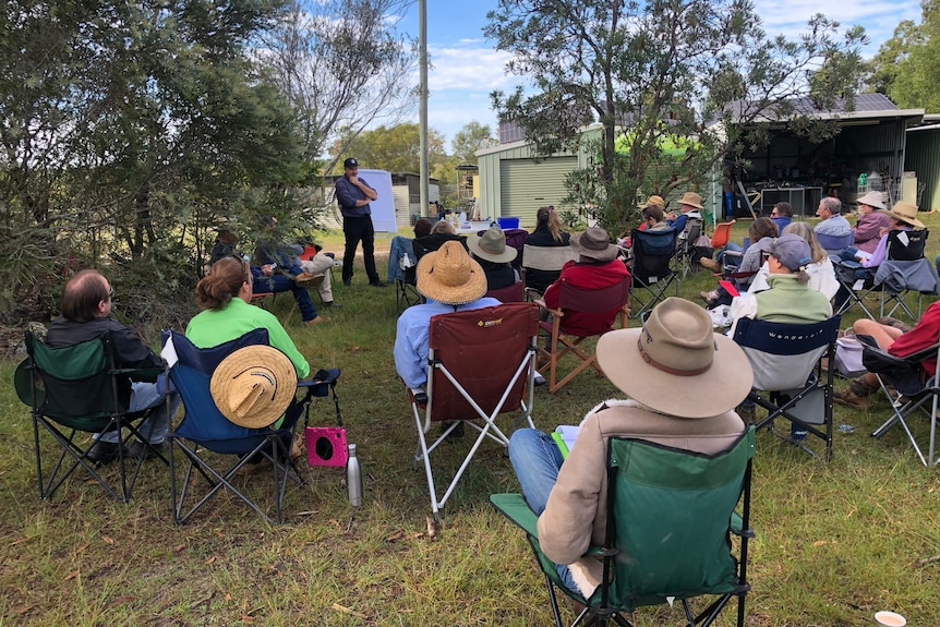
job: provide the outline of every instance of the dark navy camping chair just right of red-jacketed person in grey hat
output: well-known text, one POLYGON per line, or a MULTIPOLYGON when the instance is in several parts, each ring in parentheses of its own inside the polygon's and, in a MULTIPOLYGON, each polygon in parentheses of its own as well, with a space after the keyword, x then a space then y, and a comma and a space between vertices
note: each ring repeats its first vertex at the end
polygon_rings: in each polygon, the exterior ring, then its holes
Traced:
MULTIPOLYGON (((630 232, 634 261, 630 273, 634 276, 634 306, 631 317, 639 317, 644 311, 653 309, 666 296, 666 290, 676 280, 672 261, 676 251, 675 229, 648 231, 634 229, 630 232), (644 298, 640 294, 644 294, 644 298)), ((679 286, 676 282, 676 296, 679 286)))

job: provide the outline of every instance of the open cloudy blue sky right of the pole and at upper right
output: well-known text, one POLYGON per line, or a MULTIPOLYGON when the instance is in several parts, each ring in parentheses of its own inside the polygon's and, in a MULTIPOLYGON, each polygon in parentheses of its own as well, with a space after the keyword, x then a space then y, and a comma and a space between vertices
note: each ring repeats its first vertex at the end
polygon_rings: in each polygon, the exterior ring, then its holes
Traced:
MULTIPOLYGON (((427 52, 433 64, 427 77, 431 94, 427 124, 442 132, 448 142, 474 120, 489 124, 495 134, 498 124, 491 109, 490 93, 508 92, 516 84, 517 79, 503 71, 508 57, 495 50, 482 33, 486 12, 496 4, 496 0, 427 0, 427 52)), ((860 24, 871 39, 865 49, 866 57, 878 51, 902 20, 920 22, 919 0, 843 0, 832 5, 819 0, 756 0, 755 7, 769 35, 796 36, 806 29, 809 17, 819 12, 843 26, 860 24)), ((399 28, 418 36, 417 1, 399 28)), ((413 81, 417 84, 417 74, 413 81)))

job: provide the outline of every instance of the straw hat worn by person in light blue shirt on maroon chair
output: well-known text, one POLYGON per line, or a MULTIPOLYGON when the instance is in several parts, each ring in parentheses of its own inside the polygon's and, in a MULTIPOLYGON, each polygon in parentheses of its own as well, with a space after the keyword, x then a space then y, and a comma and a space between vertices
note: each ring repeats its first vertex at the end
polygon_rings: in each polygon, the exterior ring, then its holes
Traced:
POLYGON ((460 242, 444 242, 418 262, 418 291, 439 303, 461 305, 486 293, 486 275, 460 242))

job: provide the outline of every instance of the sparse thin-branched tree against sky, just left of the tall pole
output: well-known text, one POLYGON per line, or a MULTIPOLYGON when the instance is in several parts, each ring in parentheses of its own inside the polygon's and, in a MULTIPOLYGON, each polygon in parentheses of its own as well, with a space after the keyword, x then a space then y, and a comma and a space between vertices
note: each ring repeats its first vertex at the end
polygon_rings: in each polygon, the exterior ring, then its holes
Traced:
POLYGON ((298 0, 265 37, 265 61, 289 98, 311 160, 376 123, 414 111, 414 41, 396 31, 413 0, 298 0))

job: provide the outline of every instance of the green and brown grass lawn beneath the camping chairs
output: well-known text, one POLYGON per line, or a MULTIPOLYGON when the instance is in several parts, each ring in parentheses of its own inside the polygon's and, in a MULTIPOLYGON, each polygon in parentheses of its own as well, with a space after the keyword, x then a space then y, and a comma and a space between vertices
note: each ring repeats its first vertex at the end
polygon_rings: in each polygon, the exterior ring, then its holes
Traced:
MULTIPOLYGON (((940 227, 933 215, 925 221, 940 227)), ((735 240, 748 225, 736 225, 735 240)), ((341 250, 339 239, 325 245, 341 250)), ((682 294, 696 299, 712 280, 694 275, 682 294)), ((344 419, 365 477, 355 511, 341 470, 315 468, 305 471, 306 485, 289 489, 284 524, 267 526, 224 496, 174 527, 167 472, 156 462, 130 504, 84 478, 40 502, 32 424, 10 385, 14 363, 0 364, 0 626, 550 624, 528 545, 486 501, 518 490, 505 453, 481 448, 439 534, 429 536, 426 483, 412 463, 414 421, 390 357, 394 289, 365 287, 360 265, 357 284, 338 285, 335 294, 344 308, 329 312, 328 325, 303 327, 289 298, 279 297, 275 310, 314 367, 342 369, 344 419)), ((539 388, 535 423, 576 422, 620 396, 586 373, 555 396, 539 388)), ((314 414, 316 424, 332 424, 332 402, 318 400, 314 414)), ((911 625, 937 623, 940 482, 900 430, 868 437, 887 414, 884 401, 867 412, 836 408, 835 424, 855 431, 835 434, 830 463, 759 434, 749 626, 861 626, 883 608, 911 625)), ((456 463, 466 444, 446 445, 448 460, 456 463)), ((678 610, 646 610, 637 625, 680 618, 678 610)))

